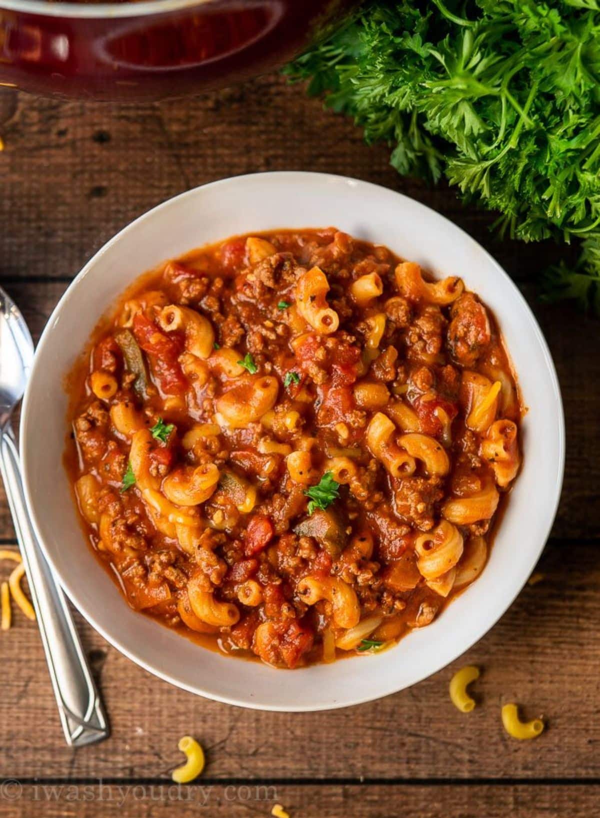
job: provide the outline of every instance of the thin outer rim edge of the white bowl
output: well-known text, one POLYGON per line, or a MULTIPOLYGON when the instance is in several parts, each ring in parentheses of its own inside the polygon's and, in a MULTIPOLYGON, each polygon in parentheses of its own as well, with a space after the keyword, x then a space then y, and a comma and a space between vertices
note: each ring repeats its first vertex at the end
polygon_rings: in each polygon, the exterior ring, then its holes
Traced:
MULTIPOLYGON (((557 377, 557 372, 553 363, 553 358, 550 353, 548 344, 546 339, 544 338, 544 334, 540 329, 540 325, 535 318, 534 313, 532 312, 529 304, 526 302, 523 294, 520 290, 518 290, 517 285, 513 282, 513 280, 508 276, 508 273, 504 271, 503 267, 499 265, 499 263, 491 256, 485 248, 483 248, 479 243, 469 236, 469 234, 464 231, 461 227, 454 224, 449 218, 446 218, 441 213, 437 213, 436 210, 428 207, 428 205, 423 205, 423 203, 419 202, 418 200, 412 199, 410 196, 405 196, 405 194, 399 193, 398 191, 394 191, 391 188, 384 187, 382 185, 374 184, 373 182, 365 182, 360 179, 355 179, 347 176, 343 176, 341 174, 333 174, 333 173, 316 173, 311 171, 268 171, 264 173, 247 173, 240 176, 235 177, 227 177, 222 178, 214 182, 207 182, 204 185, 199 185, 190 189, 189 191, 184 191, 177 196, 172 196, 170 199, 163 201, 159 205, 154 206, 154 208, 147 210, 145 213, 142 213, 141 216, 135 218, 132 222, 129 222, 128 225, 123 227, 119 230, 110 240, 105 242, 105 245, 102 245, 100 249, 96 251, 95 254, 92 255, 87 263, 84 264, 80 272, 78 272, 77 276, 74 277, 73 281, 71 281, 65 290, 65 293, 62 294, 60 300, 56 304, 56 307, 51 312, 51 316, 47 320, 47 324, 43 329, 43 333, 40 336, 38 341, 38 345, 35 350, 34 356, 34 364, 31 369, 31 373, 29 375, 29 382, 27 384, 27 388, 25 390, 25 397, 23 400, 22 411, 21 411, 21 424, 20 424, 20 456, 21 456, 21 463, 22 463, 22 470, 23 470, 23 483, 25 488, 25 499, 27 503, 27 507, 29 510, 30 518, 34 524, 34 530, 38 536, 38 541, 42 546, 43 553, 46 556, 48 563, 51 565, 51 569, 55 572, 56 578, 60 577, 60 586, 63 588, 67 596, 69 596, 69 600, 73 602, 75 607, 78 609, 80 613, 82 613, 83 617, 90 623, 90 625, 98 631, 101 636, 105 638, 110 645, 113 645, 116 649, 119 650, 120 653, 127 656, 132 662, 136 663, 140 667, 144 668, 147 672, 150 672, 154 676, 158 676, 159 678, 163 679, 163 681, 167 681, 168 683, 182 689, 187 690, 190 693, 194 693, 196 695, 204 696, 208 699, 213 699, 221 703, 232 704, 238 707, 249 708, 253 710, 268 710, 272 712, 318 712, 318 711, 326 711, 326 710, 334 710, 338 708, 346 708, 356 706, 361 703, 366 703, 369 701, 374 701, 376 699, 382 699, 384 696, 391 695, 393 693, 399 692, 400 690, 405 690, 412 685, 418 684, 419 681, 423 681, 423 679, 432 676, 433 674, 439 672, 443 667, 446 667, 450 662, 453 662, 456 658, 460 655, 465 653, 468 649, 475 645, 483 636, 488 633, 492 627, 499 621, 499 619, 504 616, 504 613, 508 610, 508 608, 513 605, 514 600, 517 596, 521 593, 523 587, 526 583, 526 578, 523 580, 522 584, 518 585, 517 590, 508 597, 503 597, 502 601, 499 602, 497 608, 493 612, 492 616, 486 620, 486 624, 484 626, 480 626, 476 628, 477 633, 473 636, 469 634, 468 640, 464 643, 461 643, 460 648, 458 650, 452 650, 451 658, 443 657, 438 659, 435 663, 432 663, 432 666, 429 667, 425 671, 416 672, 414 674, 414 678, 412 681, 408 681, 407 683, 402 682, 400 685, 394 687, 393 685, 387 685, 387 689, 383 690, 383 692, 376 692, 374 694, 368 695, 360 695, 354 698, 349 697, 348 699, 344 699, 343 701, 335 701, 334 703, 322 703, 322 704, 314 704, 311 703, 310 705, 294 705, 294 704, 269 704, 269 703, 261 703, 261 702, 253 702, 252 699, 239 699, 229 695, 219 694, 218 691, 215 692, 214 690, 206 690, 200 685, 191 685, 186 683, 186 681, 181 681, 172 673, 165 672, 157 667, 154 667, 151 661, 146 660, 139 654, 139 652, 128 648, 126 645, 123 645, 123 640, 120 638, 118 634, 114 634, 109 632, 103 627, 101 624, 96 622, 96 619, 92 616, 92 614, 88 613, 86 610, 85 605, 82 605, 80 601, 80 597, 78 595, 78 589, 76 586, 73 585, 72 582, 69 581, 69 578, 63 578, 60 576, 60 572, 56 569, 56 563, 51 557, 51 554, 47 551, 47 546, 43 542, 43 537, 40 536, 39 532, 42 530, 38 515, 36 513, 36 504, 32 501, 32 497, 34 497, 33 491, 30 486, 29 482, 29 469, 27 464, 29 462, 29 448, 28 448, 28 427, 29 427, 29 403, 31 402, 31 395, 34 391, 34 387, 32 384, 35 383, 35 375, 36 371, 39 366, 39 361, 41 359, 41 354, 39 353, 42 350, 46 343, 48 337, 51 335, 52 326, 56 321, 56 317, 60 314, 62 309, 65 307, 65 303, 69 300, 70 294, 74 289, 74 285, 82 281, 82 279, 87 276, 87 273, 92 270, 92 268, 96 265, 97 261, 103 256, 109 249, 111 249, 114 245, 119 243, 119 240, 122 239, 129 231, 132 231, 137 227, 137 225, 141 222, 146 221, 146 219, 155 218, 157 214, 159 214, 162 210, 167 210, 176 202, 181 202, 186 200, 187 198, 191 198, 193 196, 198 195, 199 191, 203 191, 205 194, 207 191, 214 190, 216 187, 223 187, 223 186, 230 186, 230 185, 237 185, 237 184, 244 184, 246 180, 262 178, 267 180, 268 178, 276 178, 280 180, 280 182, 288 182, 290 185, 293 182, 303 182, 307 181, 314 181, 320 183, 329 183, 329 184, 343 184, 349 185, 351 187, 360 187, 361 189, 365 189, 366 191, 385 191, 387 194, 398 196, 401 199, 405 200, 405 204, 416 209, 426 210, 429 213, 432 213, 436 218, 443 220, 446 222, 454 231, 459 231, 461 234, 461 238, 465 241, 471 242, 472 244, 477 245, 477 249, 481 251, 481 253, 485 254, 488 262, 492 267, 495 269, 495 273, 499 274, 500 276, 504 277, 510 286, 510 289, 513 292, 514 299, 517 299, 521 302, 522 308, 525 309, 526 316, 528 317, 529 321, 531 322, 531 329, 534 332, 534 335, 540 344, 540 351, 544 357, 544 363, 546 366, 546 373, 549 377, 549 385, 553 390, 554 397, 556 398, 556 409, 557 409, 557 418, 556 418, 556 427, 555 430, 557 432, 557 473, 556 473, 556 480, 553 483, 553 497, 551 498, 552 502, 550 504, 546 504, 546 524, 544 527, 544 531, 540 530, 540 533, 537 535, 539 538, 539 546, 535 549, 535 552, 532 551, 530 556, 531 566, 529 569, 529 573, 535 567, 537 560, 540 558, 541 552, 544 550, 544 546, 548 541, 549 534, 551 532, 554 519, 556 518, 558 503, 560 501, 560 497, 562 495, 562 483, 564 479, 564 470, 565 470, 565 456, 566 456, 566 434, 565 434, 565 416, 564 410, 562 405, 562 394, 560 390, 560 384, 557 377)), ((276 229, 276 228, 273 228, 276 229)), ((281 227, 280 229, 285 229, 281 227)), ((294 228, 292 228, 294 229, 294 228)), ((298 227, 297 229, 302 229, 302 227, 298 227)), ((308 229, 308 228, 306 228, 308 229)), ((227 236, 223 236, 223 239, 226 239, 227 236)), ((193 248, 190 248, 193 249, 193 248)), ((143 275, 146 271, 139 272, 139 275, 143 275)), ((132 279, 133 281, 134 279, 132 279)), ((106 309, 109 309, 110 305, 106 306, 106 309)), ((499 321, 501 325, 502 317, 499 316, 499 321)), ((500 326, 501 328, 501 326, 500 326)), ((510 350, 508 350, 510 353, 510 350)), ((180 637, 181 638, 181 637, 180 637)), ((381 654, 380 658, 383 658, 385 654, 381 654)), ((228 661, 236 661, 234 657, 226 657, 228 661)), ((240 661, 238 659, 237 661, 240 661)), ((278 669, 273 668, 274 672, 280 672, 278 669)), ((298 672, 298 671, 296 671, 298 672)), ((301 671, 302 672, 302 669, 301 671)))

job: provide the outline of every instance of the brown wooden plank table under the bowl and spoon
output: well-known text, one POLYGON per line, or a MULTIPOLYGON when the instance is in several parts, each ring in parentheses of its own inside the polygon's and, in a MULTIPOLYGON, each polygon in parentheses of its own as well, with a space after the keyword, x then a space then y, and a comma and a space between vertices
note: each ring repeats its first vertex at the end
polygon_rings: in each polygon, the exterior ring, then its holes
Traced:
MULTIPOLYGON (((496 243, 490 216, 463 208, 454 191, 400 178, 385 146, 367 148, 350 122, 276 77, 128 108, 23 96, 2 137, 0 280, 34 336, 87 258, 160 201, 237 173, 349 174, 444 213, 523 282, 562 383, 568 450, 542 581, 454 665, 378 702, 320 714, 227 707, 155 679, 78 618, 112 736, 73 752, 38 632, 17 612, 0 638, 0 780, 18 783, 0 785, 0 816, 154 818, 171 807, 235 818, 269 816, 274 802, 293 818, 600 815, 600 326, 570 306, 540 304, 531 285, 566 251, 496 243), (448 681, 467 662, 484 671, 481 706, 465 716, 450 703, 448 681), (500 705, 509 700, 529 717, 544 713, 540 739, 504 733, 500 705), (186 733, 204 744, 208 764, 197 785, 178 792, 169 771, 186 733)), ((3 497, 0 542, 15 544, 3 497)))

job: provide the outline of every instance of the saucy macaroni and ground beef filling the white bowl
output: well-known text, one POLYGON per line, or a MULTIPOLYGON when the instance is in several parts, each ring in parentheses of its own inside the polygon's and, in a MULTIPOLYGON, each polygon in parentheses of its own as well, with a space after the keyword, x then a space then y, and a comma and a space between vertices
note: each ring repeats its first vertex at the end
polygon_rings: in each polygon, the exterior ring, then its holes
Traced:
POLYGON ((462 278, 333 228, 235 236, 142 276, 88 353, 65 460, 133 609, 293 668, 377 654, 488 570, 521 408, 462 278))

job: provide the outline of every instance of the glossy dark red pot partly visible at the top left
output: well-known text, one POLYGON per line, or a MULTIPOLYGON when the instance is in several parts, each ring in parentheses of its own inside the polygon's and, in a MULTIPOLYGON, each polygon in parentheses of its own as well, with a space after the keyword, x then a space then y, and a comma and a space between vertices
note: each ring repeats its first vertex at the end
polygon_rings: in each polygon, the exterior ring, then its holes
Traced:
POLYGON ((0 86, 96 100, 181 97, 282 65, 352 0, 0 0, 0 86))

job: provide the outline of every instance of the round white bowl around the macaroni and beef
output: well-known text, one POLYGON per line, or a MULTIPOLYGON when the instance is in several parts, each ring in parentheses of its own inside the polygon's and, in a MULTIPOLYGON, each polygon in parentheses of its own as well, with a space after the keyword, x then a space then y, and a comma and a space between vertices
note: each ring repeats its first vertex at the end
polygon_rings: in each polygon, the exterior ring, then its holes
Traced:
MULTIPOLYGON (((402 690, 481 639, 521 591, 549 535, 561 492, 564 420, 548 347, 517 287, 459 227, 406 196, 322 173, 262 173, 176 196, 114 236, 83 267, 38 344, 21 420, 21 456, 38 536, 74 605, 134 662, 193 693, 248 708, 341 708, 402 690), (96 322, 150 267, 239 233, 335 225, 437 276, 461 276, 494 311, 529 411, 523 467, 481 578, 435 622, 383 654, 294 671, 203 649, 135 613, 85 542, 63 468, 63 378, 96 322)), ((515 635, 518 639, 518 634, 515 635)))

